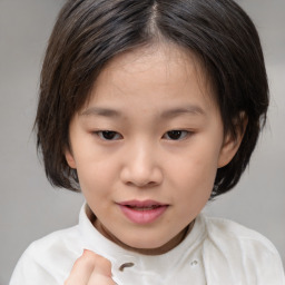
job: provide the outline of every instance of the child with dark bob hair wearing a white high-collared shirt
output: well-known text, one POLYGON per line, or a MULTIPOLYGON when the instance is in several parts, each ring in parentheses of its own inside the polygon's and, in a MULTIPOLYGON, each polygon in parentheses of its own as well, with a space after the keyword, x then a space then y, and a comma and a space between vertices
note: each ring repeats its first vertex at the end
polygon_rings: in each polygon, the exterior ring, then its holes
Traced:
POLYGON ((47 177, 86 204, 10 284, 285 284, 265 237, 200 214, 239 180, 267 106, 258 35, 232 0, 67 1, 36 127, 47 177))

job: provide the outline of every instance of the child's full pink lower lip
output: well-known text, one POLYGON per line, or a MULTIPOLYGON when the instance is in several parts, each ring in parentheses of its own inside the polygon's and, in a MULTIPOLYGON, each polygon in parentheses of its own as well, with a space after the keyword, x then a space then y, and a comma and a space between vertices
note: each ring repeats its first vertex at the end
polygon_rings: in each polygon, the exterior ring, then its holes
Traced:
POLYGON ((154 209, 138 210, 135 208, 120 205, 120 209, 125 214, 125 216, 132 223, 140 224, 140 225, 150 224, 155 222, 165 213, 167 207, 168 206, 159 206, 154 209))

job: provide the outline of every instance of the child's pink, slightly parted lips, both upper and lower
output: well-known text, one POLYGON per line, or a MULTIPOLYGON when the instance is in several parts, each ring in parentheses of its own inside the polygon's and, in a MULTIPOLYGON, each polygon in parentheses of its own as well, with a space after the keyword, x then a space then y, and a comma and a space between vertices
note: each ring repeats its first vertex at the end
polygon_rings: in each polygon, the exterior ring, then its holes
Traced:
POLYGON ((140 225, 154 223, 169 206, 156 200, 127 200, 118 205, 130 222, 140 225))

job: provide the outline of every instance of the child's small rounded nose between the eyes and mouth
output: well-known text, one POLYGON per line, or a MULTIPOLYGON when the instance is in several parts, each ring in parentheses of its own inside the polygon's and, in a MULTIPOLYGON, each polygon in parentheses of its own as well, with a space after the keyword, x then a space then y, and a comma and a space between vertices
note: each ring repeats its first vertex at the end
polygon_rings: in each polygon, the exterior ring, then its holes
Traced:
POLYGON ((161 184, 159 154, 150 144, 140 142, 128 148, 124 161, 120 178, 125 184, 140 188, 161 184))

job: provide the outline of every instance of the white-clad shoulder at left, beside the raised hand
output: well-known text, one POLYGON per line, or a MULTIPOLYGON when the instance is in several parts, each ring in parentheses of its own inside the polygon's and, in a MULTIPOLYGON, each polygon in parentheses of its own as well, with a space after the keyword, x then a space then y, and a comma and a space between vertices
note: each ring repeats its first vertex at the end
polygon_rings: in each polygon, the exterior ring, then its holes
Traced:
POLYGON ((78 226, 51 233, 32 244, 19 259, 10 285, 63 284, 81 254, 78 226))

